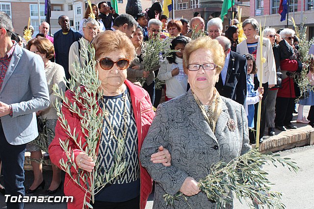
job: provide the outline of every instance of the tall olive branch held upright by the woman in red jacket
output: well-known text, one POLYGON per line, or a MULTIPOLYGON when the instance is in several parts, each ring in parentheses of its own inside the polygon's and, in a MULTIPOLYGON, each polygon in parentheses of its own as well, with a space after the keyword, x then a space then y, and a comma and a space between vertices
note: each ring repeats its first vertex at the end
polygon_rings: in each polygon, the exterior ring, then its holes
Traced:
POLYGON ((60 159, 60 167, 68 173, 70 178, 77 183, 85 192, 83 208, 93 208, 90 201, 94 203, 95 194, 97 194, 107 183, 116 179, 121 175, 127 166, 125 160, 125 142, 122 139, 118 140, 116 153, 114 153, 115 162, 109 170, 100 166, 98 158, 98 146, 103 129, 104 113, 99 111, 98 93, 101 81, 99 80, 98 72, 95 70, 95 49, 91 45, 80 41, 80 54, 86 60, 86 66, 82 68, 79 63, 74 63, 75 73, 72 78, 66 80, 68 88, 74 94, 73 102, 66 96, 65 92, 60 91, 57 85, 53 85, 53 91, 63 103, 55 101, 58 120, 62 129, 68 135, 68 139, 60 141, 60 146, 64 150, 66 160, 60 159), (84 90, 78 84, 84 86, 84 90), (61 105, 68 108, 70 112, 78 115, 80 118, 81 131, 86 142, 82 143, 82 139, 78 138, 76 128, 71 129, 68 121, 65 119, 61 111, 61 105), (73 149, 69 146, 69 141, 76 145, 76 149, 92 157, 95 162, 95 167, 92 172, 84 171, 78 168, 73 149))

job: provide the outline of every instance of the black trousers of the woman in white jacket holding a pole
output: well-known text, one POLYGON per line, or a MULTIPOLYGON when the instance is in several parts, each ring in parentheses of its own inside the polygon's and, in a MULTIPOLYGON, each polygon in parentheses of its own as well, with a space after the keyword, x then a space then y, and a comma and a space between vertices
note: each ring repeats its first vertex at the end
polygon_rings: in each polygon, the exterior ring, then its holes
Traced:
MULTIPOLYGON (((260 82, 257 77, 254 77, 254 86, 255 90, 260 86, 260 82)), ((262 98, 262 108, 261 108, 261 123, 260 123, 260 139, 264 136, 265 126, 266 126, 266 103, 267 103, 267 95, 268 95, 268 82, 263 83, 262 87, 264 87, 264 93, 262 98)), ((259 103, 254 105, 254 129, 257 128, 257 112, 259 109, 259 103)), ((256 134, 255 134, 256 135, 256 134)))

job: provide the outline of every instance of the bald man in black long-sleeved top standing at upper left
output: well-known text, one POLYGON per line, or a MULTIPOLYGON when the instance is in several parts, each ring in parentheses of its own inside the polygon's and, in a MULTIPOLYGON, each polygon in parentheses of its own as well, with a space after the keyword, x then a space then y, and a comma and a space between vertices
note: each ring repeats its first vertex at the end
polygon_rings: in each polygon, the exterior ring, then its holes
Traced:
POLYGON ((79 32, 70 28, 70 20, 68 16, 61 15, 58 19, 61 30, 54 33, 54 51, 55 62, 61 65, 65 71, 65 77, 71 78, 69 73, 69 51, 71 45, 78 41, 82 36, 79 32))

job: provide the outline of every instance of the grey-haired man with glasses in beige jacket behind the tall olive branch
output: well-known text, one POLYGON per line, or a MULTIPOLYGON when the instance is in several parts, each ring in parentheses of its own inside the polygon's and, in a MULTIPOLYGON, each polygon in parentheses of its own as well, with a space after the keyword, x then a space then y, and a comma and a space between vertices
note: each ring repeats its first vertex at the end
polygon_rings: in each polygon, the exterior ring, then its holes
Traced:
POLYGON ((81 68, 86 66, 86 60, 82 56, 83 54, 80 52, 81 50, 81 42, 84 42, 84 45, 87 46, 90 44, 97 35, 99 30, 98 22, 93 18, 87 18, 83 23, 83 34, 84 36, 79 40, 74 42, 69 51, 69 73, 71 75, 75 74, 74 71, 74 63, 78 63, 81 68))

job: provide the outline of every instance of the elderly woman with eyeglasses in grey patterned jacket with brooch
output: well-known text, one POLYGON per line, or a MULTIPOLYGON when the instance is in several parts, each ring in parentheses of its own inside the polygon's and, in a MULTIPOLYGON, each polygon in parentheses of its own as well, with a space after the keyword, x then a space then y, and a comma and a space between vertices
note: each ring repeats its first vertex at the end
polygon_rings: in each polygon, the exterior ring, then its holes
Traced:
MULTIPOLYGON (((217 40, 200 37, 184 48, 183 69, 190 90, 158 105, 140 155, 156 182, 154 209, 172 209, 165 205, 163 195, 179 191, 193 209, 215 207, 197 182, 211 172, 212 164, 228 163, 251 149, 243 105, 220 96, 214 87, 224 63, 225 54, 217 40), (158 146, 169 150, 169 167, 152 163, 150 156, 158 146)), ((173 207, 188 208, 187 203, 178 198, 173 207)))

